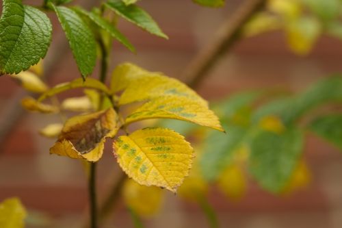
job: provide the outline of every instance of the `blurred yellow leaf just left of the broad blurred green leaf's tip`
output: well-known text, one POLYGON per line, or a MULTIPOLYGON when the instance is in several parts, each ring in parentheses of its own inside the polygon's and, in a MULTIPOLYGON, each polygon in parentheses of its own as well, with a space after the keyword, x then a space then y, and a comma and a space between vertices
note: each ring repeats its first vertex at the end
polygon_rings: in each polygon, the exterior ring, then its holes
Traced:
POLYGON ((246 194, 246 178, 237 164, 228 166, 218 179, 218 188, 226 197, 239 200, 246 194))

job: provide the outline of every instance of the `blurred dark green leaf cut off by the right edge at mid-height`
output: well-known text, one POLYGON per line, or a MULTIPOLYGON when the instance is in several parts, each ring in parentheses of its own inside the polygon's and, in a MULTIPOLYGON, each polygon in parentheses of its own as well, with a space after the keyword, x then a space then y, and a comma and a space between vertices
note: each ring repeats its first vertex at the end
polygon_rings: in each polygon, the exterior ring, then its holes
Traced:
POLYGON ((318 136, 342 149, 342 114, 321 116, 309 126, 318 136))

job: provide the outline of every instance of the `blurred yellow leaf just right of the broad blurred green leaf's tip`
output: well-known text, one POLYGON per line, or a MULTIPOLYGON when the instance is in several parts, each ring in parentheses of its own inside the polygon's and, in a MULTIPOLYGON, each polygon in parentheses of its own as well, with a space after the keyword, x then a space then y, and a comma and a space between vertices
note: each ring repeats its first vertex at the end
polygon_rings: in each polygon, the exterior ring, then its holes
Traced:
POLYGON ((311 182, 311 172, 304 160, 298 162, 298 166, 293 171, 291 179, 282 190, 282 194, 289 194, 300 188, 305 188, 311 182))

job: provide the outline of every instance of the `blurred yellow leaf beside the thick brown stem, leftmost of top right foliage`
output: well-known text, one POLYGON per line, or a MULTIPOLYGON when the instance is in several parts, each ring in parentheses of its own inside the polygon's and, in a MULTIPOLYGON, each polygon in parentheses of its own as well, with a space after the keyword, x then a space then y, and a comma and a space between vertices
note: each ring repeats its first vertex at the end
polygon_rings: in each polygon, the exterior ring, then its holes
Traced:
POLYGON ((256 36, 267 31, 280 29, 282 23, 278 16, 261 12, 252 17, 242 30, 244 36, 256 36))

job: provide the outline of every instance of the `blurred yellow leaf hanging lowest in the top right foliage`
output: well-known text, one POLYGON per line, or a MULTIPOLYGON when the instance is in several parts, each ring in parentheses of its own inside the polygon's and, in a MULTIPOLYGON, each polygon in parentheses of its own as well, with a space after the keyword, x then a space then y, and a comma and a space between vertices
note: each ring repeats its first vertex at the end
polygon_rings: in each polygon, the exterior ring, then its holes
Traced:
POLYGON ((285 30, 291 50, 298 55, 306 55, 319 38, 321 25, 317 18, 303 16, 288 23, 285 30))

